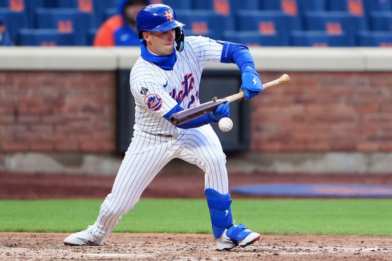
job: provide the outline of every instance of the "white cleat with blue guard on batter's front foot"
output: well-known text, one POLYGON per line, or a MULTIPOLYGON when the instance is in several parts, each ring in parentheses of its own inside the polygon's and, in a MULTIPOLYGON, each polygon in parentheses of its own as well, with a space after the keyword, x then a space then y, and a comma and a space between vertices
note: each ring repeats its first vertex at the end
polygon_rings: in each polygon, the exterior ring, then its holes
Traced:
MULTIPOLYGON (((240 224, 240 225, 242 225, 242 224, 240 224)), ((232 235, 233 237, 238 238, 238 235, 234 236, 234 233, 233 233, 233 232, 235 232, 236 227, 237 227, 236 225, 233 225, 229 229, 224 230, 224 232, 222 233, 222 236, 220 238, 218 238, 217 250, 219 250, 219 251, 230 250, 236 246, 245 247, 245 246, 253 244, 254 242, 256 242, 257 240, 260 239, 259 233, 253 232, 246 227, 242 227, 242 228, 239 227, 239 229, 242 230, 243 233, 245 233, 244 238, 240 237, 240 238, 242 238, 240 240, 232 239, 229 235, 232 235)))

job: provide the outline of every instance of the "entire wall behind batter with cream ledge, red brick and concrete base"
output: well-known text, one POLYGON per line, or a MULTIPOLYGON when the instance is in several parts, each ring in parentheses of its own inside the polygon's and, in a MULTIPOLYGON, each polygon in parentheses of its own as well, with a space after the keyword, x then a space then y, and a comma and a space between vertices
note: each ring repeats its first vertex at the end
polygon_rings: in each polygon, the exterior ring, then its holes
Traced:
MULTIPOLYGON (((228 154, 229 171, 392 173, 392 49, 250 50, 263 82, 288 73, 291 83, 248 102, 248 146, 228 154)), ((1 48, 0 170, 116 174, 119 71, 139 54, 1 48)))

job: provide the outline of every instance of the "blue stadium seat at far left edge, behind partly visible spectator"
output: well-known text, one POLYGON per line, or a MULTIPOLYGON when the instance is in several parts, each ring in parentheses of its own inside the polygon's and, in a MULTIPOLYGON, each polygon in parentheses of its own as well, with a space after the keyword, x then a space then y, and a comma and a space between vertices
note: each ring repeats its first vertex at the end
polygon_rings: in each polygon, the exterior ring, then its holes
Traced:
POLYGON ((0 15, 4 18, 4 24, 15 44, 18 44, 19 29, 27 28, 27 15, 25 12, 12 12, 8 8, 0 8, 0 15))

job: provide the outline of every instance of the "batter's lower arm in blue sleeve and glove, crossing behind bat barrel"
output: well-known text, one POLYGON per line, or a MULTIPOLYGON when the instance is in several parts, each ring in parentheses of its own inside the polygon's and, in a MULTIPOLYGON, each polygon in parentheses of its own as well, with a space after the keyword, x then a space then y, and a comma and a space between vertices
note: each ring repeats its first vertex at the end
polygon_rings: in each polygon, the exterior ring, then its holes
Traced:
MULTIPOLYGON (((215 111, 205 114, 203 116, 200 116, 196 119, 192 119, 190 121, 187 121, 185 123, 182 123, 178 125, 178 128, 181 129, 191 129, 191 128, 197 128, 212 122, 218 122, 220 119, 224 117, 229 117, 230 116, 230 103, 226 102, 218 106, 215 111)), ((173 113, 183 111, 184 109, 180 105, 176 105, 170 112, 168 112, 163 118, 167 119, 170 121, 170 117, 172 116, 173 113)))

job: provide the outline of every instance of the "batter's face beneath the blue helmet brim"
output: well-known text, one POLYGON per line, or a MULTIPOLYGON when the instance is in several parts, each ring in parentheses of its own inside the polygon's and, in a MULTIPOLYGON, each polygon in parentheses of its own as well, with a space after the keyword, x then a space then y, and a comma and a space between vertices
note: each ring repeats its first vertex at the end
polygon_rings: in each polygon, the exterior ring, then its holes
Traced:
POLYGON ((143 34, 148 49, 157 55, 169 55, 174 50, 174 29, 165 32, 146 32, 143 34))

